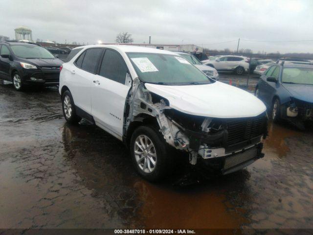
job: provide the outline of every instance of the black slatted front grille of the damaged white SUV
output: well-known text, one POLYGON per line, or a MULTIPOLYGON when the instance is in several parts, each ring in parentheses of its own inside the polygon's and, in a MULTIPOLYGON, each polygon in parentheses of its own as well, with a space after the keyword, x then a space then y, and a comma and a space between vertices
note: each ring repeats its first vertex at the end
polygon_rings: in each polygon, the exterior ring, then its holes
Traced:
POLYGON ((252 138, 264 134, 265 115, 252 118, 229 118, 226 120, 227 145, 249 142, 252 138))

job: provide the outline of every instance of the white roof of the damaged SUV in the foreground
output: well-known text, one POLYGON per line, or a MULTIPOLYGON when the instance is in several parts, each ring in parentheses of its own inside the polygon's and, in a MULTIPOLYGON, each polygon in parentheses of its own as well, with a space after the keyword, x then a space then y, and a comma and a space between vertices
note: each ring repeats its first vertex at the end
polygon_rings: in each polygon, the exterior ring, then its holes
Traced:
POLYGON ((142 53, 157 53, 157 54, 170 54, 170 55, 177 55, 175 52, 169 50, 160 50, 151 47, 136 47, 136 46, 129 46, 129 45, 89 45, 89 46, 82 46, 82 47, 75 47, 75 48, 92 48, 92 47, 105 47, 105 48, 112 48, 122 52, 142 52, 142 53))

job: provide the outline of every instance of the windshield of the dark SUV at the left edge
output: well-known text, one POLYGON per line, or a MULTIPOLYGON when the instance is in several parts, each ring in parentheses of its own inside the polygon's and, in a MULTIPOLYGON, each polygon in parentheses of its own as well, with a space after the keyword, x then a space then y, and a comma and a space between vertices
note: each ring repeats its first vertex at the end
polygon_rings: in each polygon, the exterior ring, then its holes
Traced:
POLYGON ((13 45, 11 48, 17 57, 25 59, 54 59, 54 56, 44 47, 35 45, 13 45))

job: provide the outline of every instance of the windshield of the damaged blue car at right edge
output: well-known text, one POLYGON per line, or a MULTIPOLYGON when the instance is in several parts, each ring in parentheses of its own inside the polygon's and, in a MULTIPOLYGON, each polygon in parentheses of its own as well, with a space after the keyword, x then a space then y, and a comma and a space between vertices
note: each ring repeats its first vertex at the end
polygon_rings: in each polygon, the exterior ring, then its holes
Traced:
POLYGON ((313 85, 313 68, 284 68, 282 82, 313 85))

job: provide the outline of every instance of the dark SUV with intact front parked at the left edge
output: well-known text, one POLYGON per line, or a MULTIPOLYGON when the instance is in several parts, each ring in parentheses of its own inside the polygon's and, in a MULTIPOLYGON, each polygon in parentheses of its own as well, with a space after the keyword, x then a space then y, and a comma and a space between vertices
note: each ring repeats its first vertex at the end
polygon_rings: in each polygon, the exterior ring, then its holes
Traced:
POLYGON ((59 85, 61 60, 33 43, 0 42, 0 78, 22 91, 26 86, 59 85))

